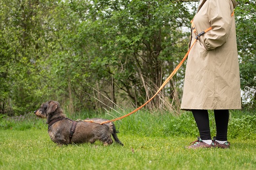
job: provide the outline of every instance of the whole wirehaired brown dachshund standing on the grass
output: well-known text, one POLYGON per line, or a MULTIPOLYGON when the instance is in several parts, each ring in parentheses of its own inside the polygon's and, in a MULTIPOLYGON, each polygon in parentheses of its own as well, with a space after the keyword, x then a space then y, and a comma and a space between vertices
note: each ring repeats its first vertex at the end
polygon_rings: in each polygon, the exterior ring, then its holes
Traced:
POLYGON ((100 124, 107 119, 90 119, 98 123, 74 121, 63 114, 60 104, 56 101, 43 103, 34 113, 38 117, 47 118, 49 136, 57 144, 94 143, 99 140, 104 145, 109 145, 113 143, 112 135, 115 142, 123 145, 117 138, 116 127, 112 122, 100 124))

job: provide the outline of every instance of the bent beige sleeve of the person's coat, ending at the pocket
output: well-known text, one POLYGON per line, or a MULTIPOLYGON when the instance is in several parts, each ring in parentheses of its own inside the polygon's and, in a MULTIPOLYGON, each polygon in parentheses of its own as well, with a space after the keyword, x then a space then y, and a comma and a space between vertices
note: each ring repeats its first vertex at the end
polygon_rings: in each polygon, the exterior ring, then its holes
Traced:
POLYGON ((226 42, 232 21, 233 7, 230 2, 230 0, 210 0, 208 19, 212 29, 204 35, 206 50, 214 50, 226 42))

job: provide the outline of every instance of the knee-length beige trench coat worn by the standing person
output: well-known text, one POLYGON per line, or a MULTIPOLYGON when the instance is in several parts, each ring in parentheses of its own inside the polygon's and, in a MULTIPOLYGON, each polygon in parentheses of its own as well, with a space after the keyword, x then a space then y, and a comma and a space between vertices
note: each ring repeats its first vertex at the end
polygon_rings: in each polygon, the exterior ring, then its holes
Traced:
MULTIPOLYGON (((181 109, 241 109, 234 0, 203 0, 194 18, 199 37, 187 58, 181 109)), ((191 43, 195 33, 191 31, 191 43)), ((191 45, 191 44, 190 44, 191 45)))

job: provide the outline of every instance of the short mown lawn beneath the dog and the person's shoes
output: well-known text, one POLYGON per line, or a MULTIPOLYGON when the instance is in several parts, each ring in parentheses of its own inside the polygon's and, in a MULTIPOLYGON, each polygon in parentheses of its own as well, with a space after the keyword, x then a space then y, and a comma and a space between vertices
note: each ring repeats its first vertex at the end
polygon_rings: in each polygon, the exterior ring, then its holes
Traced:
POLYGON ((123 147, 100 142, 59 147, 47 129, 0 130, 0 169, 256 169, 253 139, 230 139, 226 150, 187 150, 195 138, 125 132, 118 137, 123 147))

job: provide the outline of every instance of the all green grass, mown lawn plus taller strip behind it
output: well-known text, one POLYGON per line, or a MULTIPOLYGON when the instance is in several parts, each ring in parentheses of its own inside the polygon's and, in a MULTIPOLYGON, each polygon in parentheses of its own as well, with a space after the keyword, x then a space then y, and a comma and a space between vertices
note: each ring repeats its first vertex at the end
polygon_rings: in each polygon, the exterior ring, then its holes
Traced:
MULTIPOLYGON (((212 114, 210 122, 214 135, 212 114)), ((116 122, 123 147, 100 142, 59 147, 50 140, 45 120, 32 115, 0 123, 0 169, 256 169, 256 117, 251 113, 232 113, 226 150, 185 149, 198 134, 189 113, 141 111, 116 122)))

